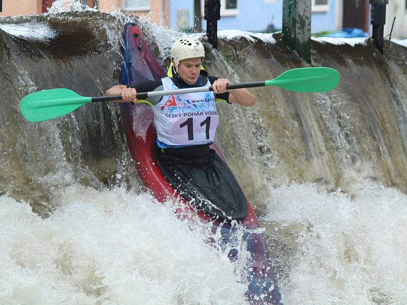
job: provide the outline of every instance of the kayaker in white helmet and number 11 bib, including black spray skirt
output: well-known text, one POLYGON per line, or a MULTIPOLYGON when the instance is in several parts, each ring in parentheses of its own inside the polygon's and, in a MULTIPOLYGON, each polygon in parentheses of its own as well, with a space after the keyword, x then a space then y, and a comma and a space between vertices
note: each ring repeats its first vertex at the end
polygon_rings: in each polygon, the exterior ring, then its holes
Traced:
POLYGON ((215 217, 246 216, 246 198, 223 160, 210 149, 218 126, 216 102, 252 106, 253 95, 244 88, 226 90, 230 81, 208 76, 201 68, 205 49, 199 40, 181 38, 171 46, 168 76, 134 86, 115 85, 106 95, 117 102, 148 103, 157 131, 154 155, 167 180, 188 201, 215 217), (213 87, 213 92, 189 93, 137 100, 137 92, 213 87))

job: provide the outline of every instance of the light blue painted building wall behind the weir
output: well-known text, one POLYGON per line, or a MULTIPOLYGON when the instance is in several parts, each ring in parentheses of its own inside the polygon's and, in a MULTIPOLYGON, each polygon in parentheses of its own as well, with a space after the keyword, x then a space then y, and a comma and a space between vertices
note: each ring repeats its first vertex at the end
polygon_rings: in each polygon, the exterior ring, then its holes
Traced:
MULTIPOLYGON (((177 29, 177 14, 180 9, 189 10, 189 25, 193 27, 193 1, 170 0, 169 27, 177 29)), ((240 0, 239 14, 222 16, 218 21, 218 29, 241 29, 244 31, 264 31, 272 22, 282 27, 282 0, 266 3, 265 0, 240 0)), ((311 32, 330 31, 335 28, 335 0, 330 0, 328 12, 312 13, 311 32)), ((206 31, 206 20, 202 18, 202 31, 206 31)))

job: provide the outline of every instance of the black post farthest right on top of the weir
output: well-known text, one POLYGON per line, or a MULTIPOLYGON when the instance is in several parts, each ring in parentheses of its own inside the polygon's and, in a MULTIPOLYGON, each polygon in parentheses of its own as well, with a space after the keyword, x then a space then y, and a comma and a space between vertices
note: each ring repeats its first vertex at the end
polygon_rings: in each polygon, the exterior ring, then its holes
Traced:
POLYGON ((383 54, 383 32, 386 23, 386 5, 389 0, 369 0, 370 24, 372 24, 372 38, 374 46, 383 54))

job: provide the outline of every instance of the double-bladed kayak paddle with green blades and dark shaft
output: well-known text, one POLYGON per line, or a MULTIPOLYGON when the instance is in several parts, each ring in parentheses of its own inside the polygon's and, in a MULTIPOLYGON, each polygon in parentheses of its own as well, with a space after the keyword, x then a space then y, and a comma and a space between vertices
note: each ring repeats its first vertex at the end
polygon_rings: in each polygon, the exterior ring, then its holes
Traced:
MULTIPOLYGON (((334 69, 325 67, 298 68, 285 71, 271 80, 228 84, 226 89, 278 86, 295 92, 326 92, 335 88, 338 82, 339 73, 334 69)), ((206 91, 213 91, 212 86, 141 92, 137 93, 137 99, 206 91)), ((20 102, 20 111, 26 120, 38 122, 63 116, 84 104, 121 99, 122 96, 82 97, 69 89, 49 89, 25 96, 20 102)))

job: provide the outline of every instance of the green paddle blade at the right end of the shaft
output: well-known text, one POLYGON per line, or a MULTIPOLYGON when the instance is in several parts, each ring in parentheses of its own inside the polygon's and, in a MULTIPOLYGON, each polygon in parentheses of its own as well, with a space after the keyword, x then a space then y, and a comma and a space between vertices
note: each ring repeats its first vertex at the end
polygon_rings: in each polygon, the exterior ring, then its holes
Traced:
POLYGON ((295 92, 326 92, 336 87, 339 73, 326 67, 298 68, 282 73, 279 77, 266 80, 266 86, 278 86, 295 92))

